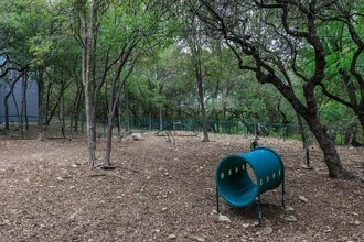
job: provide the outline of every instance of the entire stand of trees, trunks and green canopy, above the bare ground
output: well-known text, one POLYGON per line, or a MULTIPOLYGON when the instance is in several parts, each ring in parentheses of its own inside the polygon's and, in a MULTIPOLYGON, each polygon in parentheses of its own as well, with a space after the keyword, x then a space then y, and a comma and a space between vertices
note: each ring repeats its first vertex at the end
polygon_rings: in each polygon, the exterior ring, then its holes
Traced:
POLYGON ((10 70, 31 74, 45 120, 40 132, 57 114, 62 123, 69 117, 75 131, 86 117, 92 166, 96 122, 108 123, 110 145, 114 125, 126 117, 158 119, 160 128, 162 120, 199 119, 205 131, 211 120, 302 119, 332 177, 345 174, 334 135, 351 143, 364 133, 362 0, 14 0, 0 7, 1 87, 11 87, 10 70))

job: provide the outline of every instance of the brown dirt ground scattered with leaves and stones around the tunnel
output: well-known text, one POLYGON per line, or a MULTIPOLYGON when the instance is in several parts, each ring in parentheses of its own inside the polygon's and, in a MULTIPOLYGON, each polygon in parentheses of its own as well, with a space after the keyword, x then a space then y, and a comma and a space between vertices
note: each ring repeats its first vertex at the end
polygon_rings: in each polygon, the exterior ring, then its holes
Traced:
POLYGON ((363 147, 338 147, 357 177, 340 180, 328 178, 317 146, 313 169, 303 169, 298 141, 260 139, 285 163, 287 206, 281 186, 263 194, 259 228, 256 202, 220 198, 220 217, 215 207, 218 162, 249 151, 253 138, 201 140, 115 140, 113 170, 88 168, 82 139, 0 140, 0 241, 364 241, 363 147))

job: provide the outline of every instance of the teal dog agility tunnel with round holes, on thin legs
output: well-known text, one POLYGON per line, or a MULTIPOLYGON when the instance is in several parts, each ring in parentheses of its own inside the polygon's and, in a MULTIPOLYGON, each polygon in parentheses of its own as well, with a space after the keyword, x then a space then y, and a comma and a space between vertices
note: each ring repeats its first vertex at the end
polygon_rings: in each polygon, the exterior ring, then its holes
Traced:
POLYGON ((247 207, 257 199, 260 226, 260 195, 280 184, 285 206, 285 166, 274 150, 257 147, 247 153, 228 155, 216 168, 216 210, 220 212, 218 196, 233 207, 247 207))

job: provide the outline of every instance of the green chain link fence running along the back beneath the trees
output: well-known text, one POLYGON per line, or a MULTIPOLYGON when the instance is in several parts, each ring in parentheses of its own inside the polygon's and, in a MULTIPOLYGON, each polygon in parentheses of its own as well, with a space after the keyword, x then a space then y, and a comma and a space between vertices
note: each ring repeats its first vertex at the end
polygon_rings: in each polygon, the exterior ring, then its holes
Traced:
MULTIPOLYGON (((9 129, 6 129, 4 117, 0 116, 0 139, 35 139, 40 133, 36 117, 14 117, 11 118, 9 129), (25 123, 28 121, 28 125, 25 123)), ((207 120, 208 131, 211 133, 235 134, 245 136, 274 136, 280 139, 297 139, 301 140, 300 129, 297 123, 267 123, 258 121, 222 121, 207 120)), ((202 132, 202 123, 199 119, 128 119, 114 123, 114 135, 120 136, 131 132, 159 132, 162 130, 183 130, 191 132, 202 132), (173 125, 172 125, 173 124, 173 125)), ((105 138, 107 132, 107 121, 97 120, 97 138, 105 138)), ((334 136, 336 144, 364 144, 364 134, 361 128, 345 129, 329 129, 329 132, 334 136)), ((64 121, 53 119, 49 125, 44 124, 44 133, 51 138, 86 138, 86 121, 84 119, 72 120, 69 117, 64 121)), ((313 135, 309 129, 304 127, 304 133, 310 139, 313 135)))

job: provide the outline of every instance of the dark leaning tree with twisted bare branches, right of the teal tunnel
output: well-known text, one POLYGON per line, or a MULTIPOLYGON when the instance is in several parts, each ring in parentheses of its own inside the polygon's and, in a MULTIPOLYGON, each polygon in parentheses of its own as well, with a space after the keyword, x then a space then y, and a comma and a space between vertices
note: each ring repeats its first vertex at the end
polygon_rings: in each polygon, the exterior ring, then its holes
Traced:
MULTIPOLYGON (((236 8, 235 4, 239 3, 239 1, 233 1, 232 6, 227 3, 226 6, 220 8, 224 8, 225 11, 216 8, 214 4, 211 4, 208 1, 201 0, 202 6, 205 7, 205 10, 211 14, 208 16, 205 15, 205 12, 200 12, 200 18, 203 19, 214 31, 220 32, 223 37, 227 41, 227 45, 232 48, 235 56, 237 57, 238 65, 240 69, 250 70, 256 74, 256 78, 259 82, 272 84, 280 94, 290 102, 292 108, 299 113, 306 122, 309 124, 310 130, 312 131, 313 135, 317 138, 317 141, 323 152, 324 162, 329 169, 330 177, 343 177, 345 172, 341 165, 340 157, 338 155, 335 143, 332 136, 329 135, 326 128, 321 123, 318 113, 318 100, 315 96, 315 88, 322 80, 324 79, 324 69, 326 65, 325 61, 325 52, 320 35, 317 30, 317 11, 318 11, 318 1, 309 1, 308 3, 300 3, 298 8, 291 1, 276 1, 277 4, 271 3, 270 1, 256 1, 254 0, 254 4, 257 8, 257 11, 264 11, 265 9, 269 10, 278 10, 277 18, 280 18, 280 24, 282 29, 278 31, 277 25, 275 22, 268 22, 265 24, 265 28, 268 29, 269 26, 274 26, 270 30, 272 31, 271 38, 276 37, 282 43, 287 44, 289 48, 287 48, 289 54, 291 55, 291 68, 293 74, 304 81, 303 85, 303 98, 299 98, 293 89, 293 86, 287 85, 287 78, 282 78, 281 75, 277 74, 279 67, 287 68, 287 65, 277 66, 276 63, 271 62, 271 59, 267 59, 267 55, 270 56, 274 52, 267 51, 271 46, 259 46, 255 42, 256 38, 251 37, 253 35, 260 40, 259 33, 256 34, 254 32, 249 32, 248 34, 236 34, 242 33, 242 25, 231 25, 231 19, 222 14, 223 12, 228 12, 229 8, 236 8), (226 8, 226 9, 225 9, 226 8), (291 10, 299 11, 302 19, 300 20, 302 23, 302 30, 298 30, 296 28, 295 21, 291 21, 291 10), (249 35, 251 34, 251 35, 249 35), (287 37, 290 36, 291 38, 287 37), (291 41, 295 40, 302 40, 312 48, 312 56, 314 56, 314 68, 310 74, 307 73, 299 73, 297 67, 297 43, 291 41), (251 41, 254 40, 254 41, 251 41), (249 56, 254 59, 254 65, 243 59, 243 56, 249 56), (275 65, 276 64, 276 65, 275 65), (308 77, 308 75, 310 75, 308 77)), ((244 3, 246 3, 244 1, 244 3)), ((246 6, 242 4, 242 8, 246 6)), ((267 21, 275 21, 274 18, 270 18, 272 11, 269 13, 267 12, 267 21)), ((234 18, 234 16, 233 16, 234 18)), ((279 20, 279 19, 276 19, 279 20)), ((246 21, 248 24, 248 21, 246 21)), ((243 25, 245 28, 243 31, 248 32, 248 25, 243 25)), ((260 29, 260 31, 265 31, 260 29)), ((261 43, 264 44, 264 43, 261 43)), ((277 52, 275 56, 276 59, 285 59, 281 56, 280 52, 277 52)), ((288 59, 285 59, 285 63, 289 63, 288 59)), ((306 69, 303 69, 306 72, 306 69)))

